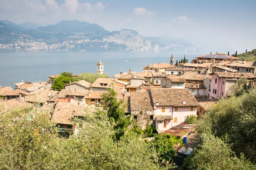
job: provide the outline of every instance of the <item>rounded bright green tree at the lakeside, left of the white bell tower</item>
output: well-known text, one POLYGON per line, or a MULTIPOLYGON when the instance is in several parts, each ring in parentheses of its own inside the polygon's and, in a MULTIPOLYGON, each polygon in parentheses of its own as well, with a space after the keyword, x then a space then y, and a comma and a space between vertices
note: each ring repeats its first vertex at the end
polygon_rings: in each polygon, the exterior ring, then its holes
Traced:
POLYGON ((70 82, 75 82, 76 78, 73 77, 72 73, 62 72, 59 77, 54 79, 52 85, 53 90, 61 91, 64 89, 64 85, 67 85, 70 82))

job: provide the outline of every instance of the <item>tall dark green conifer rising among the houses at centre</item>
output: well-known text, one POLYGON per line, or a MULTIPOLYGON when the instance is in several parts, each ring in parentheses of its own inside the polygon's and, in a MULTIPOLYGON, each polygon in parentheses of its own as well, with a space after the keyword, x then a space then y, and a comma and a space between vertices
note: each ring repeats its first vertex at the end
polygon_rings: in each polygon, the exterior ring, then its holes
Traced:
POLYGON ((120 140, 132 124, 132 121, 131 116, 125 116, 127 104, 124 98, 118 100, 116 97, 117 93, 114 91, 113 85, 108 89, 107 93, 102 95, 102 99, 105 101, 103 108, 107 111, 110 121, 114 123, 116 140, 120 140))

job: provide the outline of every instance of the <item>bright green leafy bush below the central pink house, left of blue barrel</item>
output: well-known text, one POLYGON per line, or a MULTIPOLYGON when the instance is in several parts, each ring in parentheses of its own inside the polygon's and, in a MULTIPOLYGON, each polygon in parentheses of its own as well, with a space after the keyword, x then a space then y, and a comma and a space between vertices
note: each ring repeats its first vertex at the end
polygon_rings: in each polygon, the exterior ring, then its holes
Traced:
POLYGON ((176 136, 172 136, 171 134, 154 134, 154 139, 151 142, 152 147, 156 148, 159 154, 160 162, 172 162, 175 156, 177 156, 174 144, 183 144, 181 139, 177 139, 176 136))

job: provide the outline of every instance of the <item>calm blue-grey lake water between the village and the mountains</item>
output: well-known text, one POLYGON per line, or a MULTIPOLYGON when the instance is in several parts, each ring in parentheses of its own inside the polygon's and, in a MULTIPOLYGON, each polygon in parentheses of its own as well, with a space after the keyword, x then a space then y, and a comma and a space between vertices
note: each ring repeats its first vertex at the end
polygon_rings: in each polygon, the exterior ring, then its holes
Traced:
MULTIPOLYGON (((184 55, 189 62, 199 53, 174 53, 176 60, 184 55)), ((96 63, 101 59, 104 73, 113 77, 120 72, 142 71, 143 66, 155 63, 169 63, 172 53, 144 52, 73 52, 73 51, 18 51, 0 52, 0 85, 12 86, 14 83, 47 81, 48 76, 63 71, 80 74, 97 71, 96 63), (128 60, 126 62, 126 60, 128 60)))

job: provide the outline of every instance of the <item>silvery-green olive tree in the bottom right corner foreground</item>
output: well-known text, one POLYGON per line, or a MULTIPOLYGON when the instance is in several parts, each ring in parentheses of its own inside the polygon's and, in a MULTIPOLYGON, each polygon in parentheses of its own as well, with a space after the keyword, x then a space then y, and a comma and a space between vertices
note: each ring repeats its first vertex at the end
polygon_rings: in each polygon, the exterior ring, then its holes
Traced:
POLYGON ((229 139, 215 137, 212 133, 201 134, 202 144, 184 160, 183 170, 255 170, 244 158, 233 156, 229 139))

